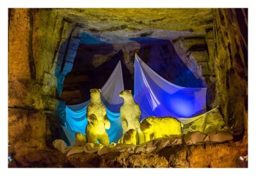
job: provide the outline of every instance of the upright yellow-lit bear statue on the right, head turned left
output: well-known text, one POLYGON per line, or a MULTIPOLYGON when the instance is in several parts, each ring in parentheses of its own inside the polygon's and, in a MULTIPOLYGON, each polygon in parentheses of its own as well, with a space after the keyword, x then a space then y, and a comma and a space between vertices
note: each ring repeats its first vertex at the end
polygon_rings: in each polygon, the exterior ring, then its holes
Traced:
POLYGON ((131 90, 124 90, 119 93, 124 99, 124 104, 120 108, 120 118, 122 120, 123 134, 129 129, 138 131, 140 120, 140 106, 134 102, 131 90))

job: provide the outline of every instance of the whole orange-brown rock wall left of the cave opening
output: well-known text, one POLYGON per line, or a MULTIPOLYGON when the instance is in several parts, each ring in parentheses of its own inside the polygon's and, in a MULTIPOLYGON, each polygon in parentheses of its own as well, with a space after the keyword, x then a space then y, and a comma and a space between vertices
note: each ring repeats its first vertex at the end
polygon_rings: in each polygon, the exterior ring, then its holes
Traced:
POLYGON ((65 64, 67 58, 62 64, 60 47, 70 52, 79 32, 74 22, 54 10, 10 9, 9 17, 9 153, 19 163, 30 150, 43 150, 52 140, 65 138, 57 83, 72 67, 65 64), (65 45, 67 38, 70 43, 65 45))

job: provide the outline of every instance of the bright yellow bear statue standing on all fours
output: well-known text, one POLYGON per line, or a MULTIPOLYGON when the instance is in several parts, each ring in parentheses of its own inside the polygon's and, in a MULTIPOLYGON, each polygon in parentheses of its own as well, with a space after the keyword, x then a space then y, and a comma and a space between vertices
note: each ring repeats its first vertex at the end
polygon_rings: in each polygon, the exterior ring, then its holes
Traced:
POLYGON ((169 116, 149 116, 140 122, 140 130, 144 133, 145 141, 182 134, 182 127, 179 120, 169 116))

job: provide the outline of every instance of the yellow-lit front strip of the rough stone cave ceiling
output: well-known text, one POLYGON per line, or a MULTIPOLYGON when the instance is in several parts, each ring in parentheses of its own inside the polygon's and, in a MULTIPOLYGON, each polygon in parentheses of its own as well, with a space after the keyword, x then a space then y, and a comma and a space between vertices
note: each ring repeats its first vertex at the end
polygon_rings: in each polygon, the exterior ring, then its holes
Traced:
POLYGON ((68 18, 80 17, 94 31, 109 31, 110 26, 136 31, 140 29, 164 29, 172 31, 204 31, 212 22, 210 8, 86 8, 60 9, 68 18))

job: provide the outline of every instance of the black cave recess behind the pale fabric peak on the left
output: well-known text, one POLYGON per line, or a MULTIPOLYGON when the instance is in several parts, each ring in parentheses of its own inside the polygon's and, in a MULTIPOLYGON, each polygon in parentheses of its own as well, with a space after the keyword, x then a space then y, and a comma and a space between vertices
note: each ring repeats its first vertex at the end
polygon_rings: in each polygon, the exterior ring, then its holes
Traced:
MULTIPOLYGON (((76 72, 76 74, 86 74, 88 76, 88 81, 84 81, 83 83, 80 84, 80 87, 79 87, 83 102, 90 99, 90 89, 102 88, 102 86, 104 86, 106 81, 108 81, 109 77, 111 76, 116 65, 118 64, 118 61, 121 61, 122 74, 124 79, 124 88, 133 90, 132 75, 129 72, 126 65, 124 64, 122 51, 118 51, 110 60, 102 63, 101 65, 97 67, 93 66, 95 64, 93 63, 93 59, 95 58, 95 55, 102 55, 102 58, 104 58, 104 56, 110 54, 111 52, 114 52, 114 48, 112 44, 102 44, 102 45, 81 44, 79 45, 79 49, 77 50, 77 56, 74 60, 73 69, 71 72, 67 74, 67 77, 69 75, 72 75, 74 72, 76 72), (97 47, 104 47, 105 49, 104 50, 98 49, 99 52, 86 55, 84 51, 90 48, 92 49, 92 47, 95 48, 95 50, 97 50, 97 47), (83 70, 79 70, 79 67, 83 65, 83 62, 85 60, 86 60, 86 66, 83 67, 83 70)), ((65 85, 65 82, 64 82, 64 85, 65 85)))

